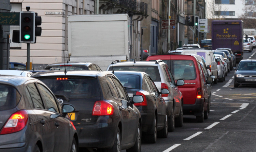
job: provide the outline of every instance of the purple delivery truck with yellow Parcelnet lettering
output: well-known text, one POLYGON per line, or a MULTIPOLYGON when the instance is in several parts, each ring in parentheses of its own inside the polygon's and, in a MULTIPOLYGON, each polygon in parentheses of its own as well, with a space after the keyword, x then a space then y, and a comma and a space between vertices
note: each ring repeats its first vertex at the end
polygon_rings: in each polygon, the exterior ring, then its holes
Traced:
POLYGON ((243 21, 212 21, 212 49, 218 48, 232 49, 237 62, 243 59, 243 21))

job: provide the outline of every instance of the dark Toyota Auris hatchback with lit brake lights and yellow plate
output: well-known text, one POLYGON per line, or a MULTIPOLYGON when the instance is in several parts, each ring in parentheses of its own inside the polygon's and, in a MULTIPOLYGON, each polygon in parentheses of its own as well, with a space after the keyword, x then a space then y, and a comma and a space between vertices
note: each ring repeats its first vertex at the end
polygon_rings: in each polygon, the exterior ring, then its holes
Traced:
POLYGON ((79 132, 79 147, 89 151, 141 150, 141 115, 117 77, 108 71, 49 71, 33 77, 42 80, 62 103, 78 109, 69 116, 79 132))

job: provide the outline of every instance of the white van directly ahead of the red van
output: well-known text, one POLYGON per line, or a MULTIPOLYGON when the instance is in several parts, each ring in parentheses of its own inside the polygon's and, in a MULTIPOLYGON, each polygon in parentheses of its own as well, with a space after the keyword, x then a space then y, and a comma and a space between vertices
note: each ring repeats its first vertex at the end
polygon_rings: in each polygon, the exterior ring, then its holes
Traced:
POLYGON ((218 81, 218 67, 212 51, 204 49, 186 49, 181 54, 196 54, 202 57, 207 68, 211 71, 211 75, 215 76, 214 83, 218 81))

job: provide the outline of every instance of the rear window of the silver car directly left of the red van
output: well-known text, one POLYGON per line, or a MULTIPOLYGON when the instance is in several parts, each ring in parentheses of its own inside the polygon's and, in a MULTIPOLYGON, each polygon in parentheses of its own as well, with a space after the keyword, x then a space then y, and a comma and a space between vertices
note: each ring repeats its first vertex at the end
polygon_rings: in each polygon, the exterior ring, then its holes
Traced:
MULTIPOLYGON (((112 66, 109 67, 109 71, 112 71, 112 66)), ((128 66, 114 66, 114 71, 140 71, 147 73, 153 81, 161 81, 159 70, 157 66, 150 65, 128 65, 128 66)))

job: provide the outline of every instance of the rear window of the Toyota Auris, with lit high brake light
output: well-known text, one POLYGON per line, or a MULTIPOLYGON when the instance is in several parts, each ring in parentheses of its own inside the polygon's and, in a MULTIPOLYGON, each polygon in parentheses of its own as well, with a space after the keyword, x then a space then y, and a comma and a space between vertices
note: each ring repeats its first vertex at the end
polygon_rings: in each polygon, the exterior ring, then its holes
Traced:
POLYGON ((96 78, 57 76, 38 79, 43 81, 56 95, 65 95, 67 98, 100 96, 99 84, 96 78))

